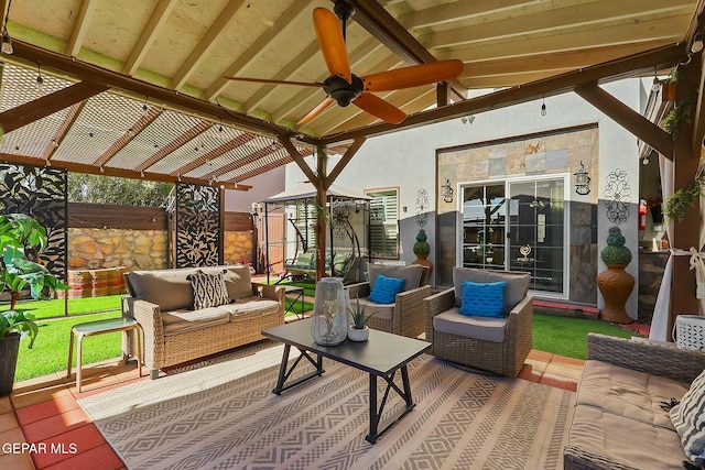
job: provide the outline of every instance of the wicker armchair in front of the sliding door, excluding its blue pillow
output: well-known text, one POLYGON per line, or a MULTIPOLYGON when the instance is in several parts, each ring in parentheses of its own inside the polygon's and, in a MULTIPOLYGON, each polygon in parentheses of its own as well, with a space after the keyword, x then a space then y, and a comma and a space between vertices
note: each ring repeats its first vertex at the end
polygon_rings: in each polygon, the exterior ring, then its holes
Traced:
MULTIPOLYGON (((528 277, 523 273, 456 267, 456 286, 424 299, 426 340, 432 342, 432 353, 470 368, 517 376, 532 346, 533 297, 527 294, 528 277), (492 282, 500 277, 520 281, 521 285, 512 293, 520 298, 519 303, 510 307, 506 318, 459 315, 456 292, 462 292, 463 280, 468 275, 480 276, 476 282, 492 282), (438 315, 443 316, 436 318, 438 315), (445 328, 438 330, 436 327, 441 327, 441 321, 445 323, 445 328), (447 328, 448 321, 458 321, 458 328, 447 328), (465 335, 467 331, 473 335, 465 335)), ((506 300, 508 295, 506 293, 506 300)))

